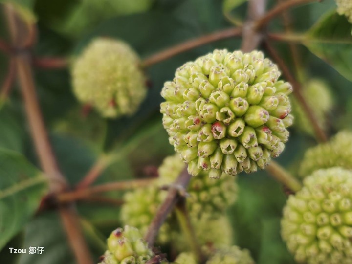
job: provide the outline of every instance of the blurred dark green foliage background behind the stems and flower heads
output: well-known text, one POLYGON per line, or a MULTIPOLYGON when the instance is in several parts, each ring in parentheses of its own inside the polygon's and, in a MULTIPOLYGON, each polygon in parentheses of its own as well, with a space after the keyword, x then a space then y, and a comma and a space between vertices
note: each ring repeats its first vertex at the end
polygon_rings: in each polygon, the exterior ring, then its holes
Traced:
MULTIPOLYGON (((20 1, 21 2, 21 1, 20 1)), ((69 57, 80 53, 97 36, 126 41, 140 57, 149 55, 191 38, 233 26, 223 14, 221 0, 32 0, 38 22, 38 42, 35 56, 69 57)), ((268 1, 268 8, 276 1, 268 1)), ((0 6, 1 7, 1 6, 0 6)), ((327 12, 334 10, 332 0, 306 5, 292 10, 292 27, 298 32, 308 30, 327 12)), ((243 20, 246 3, 231 12, 243 20)), ((2 10, 0 10, 2 11, 2 10)), ((0 14, 2 14, 0 12, 0 14)), ((276 19, 268 30, 283 31, 276 19)), ((8 39, 4 16, 0 16, 0 36, 8 39)), ((85 176, 97 157, 113 151, 119 159, 99 177, 96 184, 148 176, 148 166, 158 166, 163 158, 173 154, 167 133, 162 127, 159 104, 160 90, 173 78, 178 66, 215 48, 239 49, 241 39, 228 39, 207 44, 179 54, 146 70, 151 88, 140 110, 129 118, 107 120, 92 112, 85 119, 74 98, 69 69, 35 68, 35 82, 50 140, 63 174, 74 185, 85 176)), ((275 46, 288 66, 292 58, 287 44, 275 46)), ((302 71, 306 76, 324 79, 332 88, 334 109, 329 113, 329 134, 342 128, 352 128, 351 82, 334 68, 300 45, 302 71)), ((264 50, 265 52, 265 50, 264 50)), ((0 80, 4 80, 8 57, 0 53, 0 80)), ((293 174, 305 149, 316 144, 314 138, 292 127, 290 138, 277 162, 293 174)), ((0 147, 24 154, 39 167, 28 134, 27 122, 18 87, 0 110, 0 147)), ((239 199, 228 214, 235 230, 235 241, 248 248, 258 264, 291 264, 293 258, 280 237, 280 219, 286 195, 281 184, 265 171, 239 176, 239 199)), ((111 198, 121 193, 111 192, 111 198)), ((105 238, 120 225, 119 207, 97 202, 79 201, 78 211, 86 239, 95 259, 104 251, 105 238)), ((73 264, 58 215, 45 211, 29 221, 0 252, 0 262, 8 264, 73 264), (8 254, 8 247, 43 246, 42 255, 8 254)))

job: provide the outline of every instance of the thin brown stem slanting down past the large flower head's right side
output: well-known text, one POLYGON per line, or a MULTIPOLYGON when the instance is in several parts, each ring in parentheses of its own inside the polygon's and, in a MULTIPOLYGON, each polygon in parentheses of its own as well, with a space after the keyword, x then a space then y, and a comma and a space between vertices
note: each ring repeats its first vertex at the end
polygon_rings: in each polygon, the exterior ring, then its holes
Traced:
POLYGON ((301 84, 293 77, 291 71, 286 66, 286 63, 281 59, 280 55, 277 53, 275 48, 266 40, 265 41, 266 49, 271 54, 273 60, 278 64, 280 70, 282 70, 284 76, 286 77, 287 81, 291 83, 293 86, 293 95, 297 98, 298 102, 300 103, 301 107, 307 114, 309 122, 311 123, 315 136, 319 142, 327 141, 327 136, 325 132, 319 127, 314 112, 311 110, 310 106, 308 106, 306 99, 302 94, 302 87, 301 84))

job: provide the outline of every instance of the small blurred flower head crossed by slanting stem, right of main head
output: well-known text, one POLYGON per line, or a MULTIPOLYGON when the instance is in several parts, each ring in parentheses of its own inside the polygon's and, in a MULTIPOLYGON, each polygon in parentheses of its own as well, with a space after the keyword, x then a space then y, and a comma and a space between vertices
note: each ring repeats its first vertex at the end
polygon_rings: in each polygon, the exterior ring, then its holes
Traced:
MULTIPOLYGON (((314 117, 319 127, 325 130, 326 115, 333 107, 330 88, 322 80, 311 79, 303 87, 303 96, 308 106, 314 109, 314 117)), ((295 125, 297 128, 310 135, 314 135, 313 127, 308 120, 306 112, 295 99, 292 100, 292 115, 295 117, 295 125)))

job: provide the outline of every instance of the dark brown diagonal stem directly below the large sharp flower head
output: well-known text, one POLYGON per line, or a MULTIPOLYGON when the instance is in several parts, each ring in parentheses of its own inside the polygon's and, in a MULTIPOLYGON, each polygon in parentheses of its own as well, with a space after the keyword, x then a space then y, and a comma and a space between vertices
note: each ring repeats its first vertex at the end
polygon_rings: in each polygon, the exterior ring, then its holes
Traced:
MULTIPOLYGON (((174 182, 174 185, 186 188, 191 177, 192 176, 189 175, 187 172, 187 166, 185 166, 185 168, 182 170, 182 172, 174 182)), ((164 200, 163 204, 159 207, 159 210, 156 212, 154 219, 148 228, 147 234, 144 237, 149 246, 153 246, 156 235, 161 225, 166 220, 168 214, 173 210, 180 197, 181 196, 179 195, 179 190, 177 188, 169 189, 166 199, 164 200)))

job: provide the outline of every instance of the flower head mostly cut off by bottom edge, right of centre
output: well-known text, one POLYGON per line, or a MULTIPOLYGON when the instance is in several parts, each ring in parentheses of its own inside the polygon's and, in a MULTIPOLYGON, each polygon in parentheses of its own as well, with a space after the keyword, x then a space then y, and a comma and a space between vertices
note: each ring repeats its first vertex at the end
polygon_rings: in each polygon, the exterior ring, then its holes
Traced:
POLYGON ((254 261, 247 249, 231 246, 219 249, 206 264, 254 264, 254 261))

